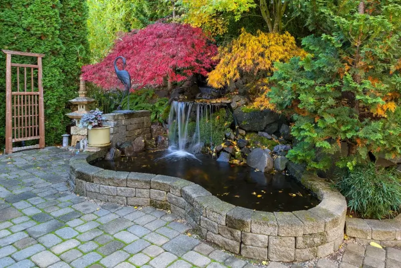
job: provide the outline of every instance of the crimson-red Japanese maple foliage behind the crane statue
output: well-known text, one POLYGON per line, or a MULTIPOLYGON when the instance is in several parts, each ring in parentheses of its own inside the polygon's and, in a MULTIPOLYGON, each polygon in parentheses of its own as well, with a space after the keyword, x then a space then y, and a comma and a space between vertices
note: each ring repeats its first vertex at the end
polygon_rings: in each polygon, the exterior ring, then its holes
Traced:
MULTIPOLYGON (((127 60, 125 70, 131 75, 133 89, 160 86, 167 79, 179 82, 193 74, 206 75, 216 64, 212 57, 217 47, 210 41, 200 28, 156 23, 117 40, 102 62, 82 67, 83 77, 104 89, 123 88, 113 67, 117 56, 127 60)), ((121 60, 118 65, 121 69, 121 60)))

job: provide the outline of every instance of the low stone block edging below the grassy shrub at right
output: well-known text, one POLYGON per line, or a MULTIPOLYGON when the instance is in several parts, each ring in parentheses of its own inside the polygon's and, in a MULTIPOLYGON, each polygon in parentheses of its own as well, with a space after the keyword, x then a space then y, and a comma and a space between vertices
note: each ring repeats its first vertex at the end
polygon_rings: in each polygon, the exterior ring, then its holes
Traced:
POLYGON ((401 246, 401 214, 390 220, 347 217, 345 232, 361 244, 374 241, 382 246, 401 246))

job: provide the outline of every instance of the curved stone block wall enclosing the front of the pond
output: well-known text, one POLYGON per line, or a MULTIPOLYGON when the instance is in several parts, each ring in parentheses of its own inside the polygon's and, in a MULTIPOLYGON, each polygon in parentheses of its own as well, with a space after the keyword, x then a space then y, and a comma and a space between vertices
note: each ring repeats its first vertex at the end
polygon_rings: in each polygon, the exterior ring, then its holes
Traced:
POLYGON ((345 198, 318 177, 302 183, 321 203, 309 210, 263 212, 236 207, 179 178, 103 170, 88 164, 105 152, 70 161, 70 179, 81 196, 130 206, 169 209, 206 240, 256 259, 308 260, 337 251, 344 236, 345 198))

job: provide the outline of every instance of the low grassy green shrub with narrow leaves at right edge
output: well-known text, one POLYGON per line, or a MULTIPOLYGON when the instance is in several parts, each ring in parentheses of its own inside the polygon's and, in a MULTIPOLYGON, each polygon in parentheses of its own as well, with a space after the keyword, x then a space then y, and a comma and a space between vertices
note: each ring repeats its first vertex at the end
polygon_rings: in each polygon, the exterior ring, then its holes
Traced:
POLYGON ((374 164, 357 166, 336 184, 347 198, 348 207, 364 218, 391 215, 401 205, 401 184, 398 171, 375 167, 374 164))

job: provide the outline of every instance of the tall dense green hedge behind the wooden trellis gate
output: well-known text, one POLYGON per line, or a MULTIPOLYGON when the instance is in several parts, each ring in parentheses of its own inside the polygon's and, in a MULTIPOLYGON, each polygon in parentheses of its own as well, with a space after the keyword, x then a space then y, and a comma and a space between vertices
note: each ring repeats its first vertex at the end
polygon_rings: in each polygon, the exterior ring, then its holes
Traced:
MULTIPOLYGON (((46 144, 61 142, 88 62, 85 0, 2 0, 0 49, 46 54, 43 58, 46 144)), ((18 57, 14 57, 19 60, 18 57)), ((33 60, 35 62, 35 60, 33 60)), ((25 60, 25 63, 28 63, 25 60)), ((5 143, 6 57, 0 53, 0 148, 5 143)))

